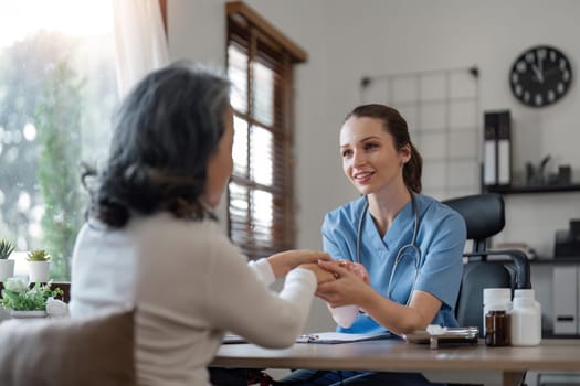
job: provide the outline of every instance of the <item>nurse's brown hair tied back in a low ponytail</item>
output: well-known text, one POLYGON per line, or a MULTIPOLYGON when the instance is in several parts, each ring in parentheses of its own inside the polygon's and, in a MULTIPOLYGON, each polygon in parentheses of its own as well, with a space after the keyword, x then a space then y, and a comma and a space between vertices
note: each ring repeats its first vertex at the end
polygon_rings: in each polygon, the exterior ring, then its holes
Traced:
POLYGON ((405 144, 411 148, 411 158, 403 165, 403 181, 409 190, 414 193, 421 193, 421 172, 423 170, 423 158, 411 142, 409 127, 404 118, 394 108, 384 105, 362 105, 350 111, 345 120, 350 117, 375 118, 384 122, 383 127, 394 139, 394 147, 401 150, 405 144))

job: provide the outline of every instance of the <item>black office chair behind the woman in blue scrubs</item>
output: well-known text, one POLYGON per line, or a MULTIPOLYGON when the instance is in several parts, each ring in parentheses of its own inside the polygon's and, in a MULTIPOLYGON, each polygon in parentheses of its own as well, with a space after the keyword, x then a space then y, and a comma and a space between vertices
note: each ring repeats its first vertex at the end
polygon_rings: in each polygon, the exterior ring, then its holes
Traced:
POLYGON ((483 330, 483 289, 510 288, 512 291, 531 288, 529 261, 521 250, 488 250, 489 238, 505 226, 504 199, 500 194, 474 194, 443 201, 465 219, 467 239, 473 250, 463 256, 466 260, 455 315, 462 326, 483 330), (488 256, 502 256, 489 261, 488 256))

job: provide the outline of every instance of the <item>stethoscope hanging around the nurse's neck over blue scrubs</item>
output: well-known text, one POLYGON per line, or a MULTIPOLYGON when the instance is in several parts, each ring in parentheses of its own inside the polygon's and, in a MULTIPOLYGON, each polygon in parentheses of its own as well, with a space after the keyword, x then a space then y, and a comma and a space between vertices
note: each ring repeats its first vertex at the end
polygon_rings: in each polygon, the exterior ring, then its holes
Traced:
MULTIPOLYGON (((410 293, 413 292, 413 289, 416 283, 416 279, 419 277, 419 267, 421 265, 421 248, 419 248, 419 246, 416 245, 416 235, 419 233, 419 208, 416 205, 416 199, 413 193, 411 193, 411 204, 413 206, 413 216, 414 216, 413 237, 411 238, 411 243, 403 245, 397 253, 397 256, 394 257, 394 265, 392 267, 391 276, 389 278, 389 287, 387 288, 387 297, 389 299, 392 299, 392 279, 397 271, 397 267, 399 266, 399 261, 401 261, 401 259, 405 256, 405 253, 409 249, 414 250, 414 255, 415 255, 415 274, 413 278, 413 286, 411 287, 410 293)), ((355 262, 359 262, 359 264, 360 264, 360 245, 362 242, 362 225, 365 224, 365 217, 367 215, 368 210, 369 210, 369 201, 367 197, 365 197, 365 207, 362 208, 362 213, 358 222, 357 254, 355 256, 355 262)), ((409 296, 409 299, 407 300, 407 304, 409 304, 410 300, 411 300, 411 297, 409 296)))

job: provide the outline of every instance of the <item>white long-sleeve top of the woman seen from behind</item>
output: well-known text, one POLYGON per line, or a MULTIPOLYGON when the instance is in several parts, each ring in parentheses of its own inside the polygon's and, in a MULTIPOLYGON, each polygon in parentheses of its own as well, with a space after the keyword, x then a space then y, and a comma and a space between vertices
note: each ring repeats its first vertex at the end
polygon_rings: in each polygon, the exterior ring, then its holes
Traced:
POLYGON ((316 278, 292 270, 280 292, 266 259, 247 262, 211 219, 160 213, 122 229, 85 224, 73 255, 70 312, 136 305, 139 385, 209 385, 207 366, 230 331, 289 346, 306 321, 316 278))

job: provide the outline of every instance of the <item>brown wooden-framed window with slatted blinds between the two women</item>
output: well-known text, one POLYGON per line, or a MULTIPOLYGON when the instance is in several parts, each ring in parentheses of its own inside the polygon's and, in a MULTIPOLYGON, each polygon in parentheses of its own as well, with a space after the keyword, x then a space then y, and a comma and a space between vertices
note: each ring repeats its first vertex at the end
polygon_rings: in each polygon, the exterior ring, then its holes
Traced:
POLYGON ((294 246, 292 79, 306 54, 242 2, 226 13, 235 132, 229 234, 256 258, 294 246))

